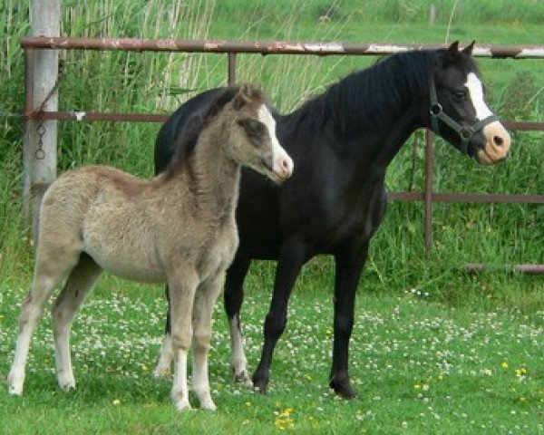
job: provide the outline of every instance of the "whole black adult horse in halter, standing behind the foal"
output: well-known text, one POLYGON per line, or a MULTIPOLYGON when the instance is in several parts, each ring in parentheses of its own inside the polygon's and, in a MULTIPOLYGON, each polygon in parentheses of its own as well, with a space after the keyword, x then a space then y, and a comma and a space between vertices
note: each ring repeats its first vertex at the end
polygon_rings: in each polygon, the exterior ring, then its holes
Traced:
MULTIPOLYGON (((272 353, 287 323, 287 301, 301 267, 313 256, 335 256, 335 320, 330 386, 355 396, 348 376, 348 343, 355 290, 368 244, 385 211, 385 169, 416 129, 432 128, 482 164, 504 160, 510 136, 483 100, 473 43, 397 53, 352 73, 287 115, 276 114, 277 138, 295 162, 293 177, 274 185, 251 171, 242 175, 237 220, 238 254, 228 269, 225 308, 231 364, 248 381, 239 311, 253 258, 277 260, 274 293, 264 324, 265 343, 253 385, 266 391, 272 353)), ((180 106, 156 142, 157 172, 171 159, 172 143, 191 118, 206 111, 219 88, 180 106)), ((170 370, 170 336, 156 372, 170 370)))

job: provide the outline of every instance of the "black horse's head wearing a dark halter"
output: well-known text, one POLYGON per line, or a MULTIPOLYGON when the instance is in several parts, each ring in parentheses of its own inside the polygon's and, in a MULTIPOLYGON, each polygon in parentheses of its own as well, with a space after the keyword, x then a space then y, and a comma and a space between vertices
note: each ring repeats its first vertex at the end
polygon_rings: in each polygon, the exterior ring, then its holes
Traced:
POLYGON ((484 165, 506 159, 510 134, 488 108, 480 73, 471 57, 474 43, 439 50, 430 84, 432 131, 484 165))

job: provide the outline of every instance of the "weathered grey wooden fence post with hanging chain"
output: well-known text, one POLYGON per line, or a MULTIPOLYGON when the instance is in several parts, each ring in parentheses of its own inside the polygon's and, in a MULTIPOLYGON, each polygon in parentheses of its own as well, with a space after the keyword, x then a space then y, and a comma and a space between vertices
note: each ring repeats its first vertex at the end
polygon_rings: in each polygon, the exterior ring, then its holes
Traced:
MULTIPOLYGON (((61 0, 31 0, 30 24, 33 36, 60 36, 61 0)), ((29 95, 37 109, 51 92, 58 76, 59 56, 56 50, 35 50, 34 82, 29 95)), ((58 94, 53 92, 44 111, 56 111, 58 94)), ((57 121, 27 120, 23 143, 23 218, 37 235, 37 208, 45 188, 56 178, 57 121)))

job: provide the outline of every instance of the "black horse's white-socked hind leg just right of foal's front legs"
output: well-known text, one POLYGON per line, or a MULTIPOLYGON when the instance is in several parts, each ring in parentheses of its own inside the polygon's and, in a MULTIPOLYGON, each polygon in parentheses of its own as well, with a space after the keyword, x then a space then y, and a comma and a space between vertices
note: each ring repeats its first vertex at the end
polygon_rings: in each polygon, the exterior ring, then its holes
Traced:
POLYGON ((244 301, 244 279, 248 274, 251 260, 237 255, 228 267, 225 282, 225 311, 230 332, 230 368, 236 382, 250 383, 248 359, 244 353, 244 342, 240 326, 240 309, 244 301))

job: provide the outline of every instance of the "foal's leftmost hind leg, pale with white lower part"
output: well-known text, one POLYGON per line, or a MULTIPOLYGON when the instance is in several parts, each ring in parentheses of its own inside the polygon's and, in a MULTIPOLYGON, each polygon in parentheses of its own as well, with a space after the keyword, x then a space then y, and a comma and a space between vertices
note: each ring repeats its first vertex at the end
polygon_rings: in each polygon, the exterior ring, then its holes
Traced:
POLYGON ((44 303, 53 292, 54 285, 63 280, 75 266, 78 257, 79 251, 73 247, 55 246, 48 249, 38 246, 34 282, 21 307, 14 362, 7 376, 8 390, 11 394, 19 395, 23 392, 30 340, 36 324, 44 313, 44 303))

